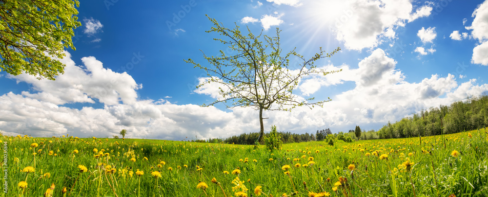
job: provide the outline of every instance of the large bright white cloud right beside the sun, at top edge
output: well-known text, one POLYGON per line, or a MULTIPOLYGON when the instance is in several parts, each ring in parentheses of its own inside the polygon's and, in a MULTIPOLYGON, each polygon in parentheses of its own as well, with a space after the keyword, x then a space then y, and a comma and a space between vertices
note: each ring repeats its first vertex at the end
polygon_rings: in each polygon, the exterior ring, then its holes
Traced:
POLYGON ((394 38, 397 27, 427 17, 432 11, 430 6, 413 11, 410 0, 350 0, 345 3, 350 14, 340 15, 333 31, 337 40, 344 41, 350 50, 374 48, 385 38, 394 38))

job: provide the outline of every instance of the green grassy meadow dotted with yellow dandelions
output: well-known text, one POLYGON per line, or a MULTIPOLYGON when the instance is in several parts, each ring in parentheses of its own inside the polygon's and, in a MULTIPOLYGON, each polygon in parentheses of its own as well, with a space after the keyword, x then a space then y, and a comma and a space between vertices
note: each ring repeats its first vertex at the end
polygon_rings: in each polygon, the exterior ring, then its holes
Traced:
POLYGON ((1 136, 1 196, 488 196, 487 132, 289 143, 272 152, 264 145, 1 136))

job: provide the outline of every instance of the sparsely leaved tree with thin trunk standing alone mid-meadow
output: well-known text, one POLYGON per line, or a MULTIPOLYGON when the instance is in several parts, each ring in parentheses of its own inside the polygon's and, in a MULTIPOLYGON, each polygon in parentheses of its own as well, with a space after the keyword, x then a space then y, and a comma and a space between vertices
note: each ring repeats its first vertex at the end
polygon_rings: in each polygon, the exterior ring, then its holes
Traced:
POLYGON ((196 68, 206 71, 208 78, 199 84, 197 89, 210 83, 220 84, 220 98, 210 104, 202 106, 213 106, 223 103, 227 108, 252 107, 259 110, 259 123, 261 126, 258 142, 262 143, 264 135, 263 110, 285 110, 299 106, 312 107, 320 106, 327 101, 311 102, 314 98, 300 99, 292 91, 297 88, 300 79, 309 74, 326 75, 339 71, 325 71, 318 69, 314 62, 323 57, 330 57, 339 50, 335 49, 330 54, 324 54, 320 48, 319 52, 309 59, 295 52, 295 49, 282 55, 280 47, 280 30, 276 29, 276 36, 270 37, 261 32, 255 36, 249 32, 247 35, 241 33, 236 24, 234 29, 225 28, 216 19, 207 18, 213 23, 207 33, 216 32, 224 36, 224 39, 214 38, 233 51, 232 55, 226 55, 220 51, 219 56, 207 56, 204 58, 213 65, 205 67, 195 63, 192 59, 184 60, 196 68), (290 58, 296 57, 299 61, 296 69, 290 68, 290 58), (227 102, 231 102, 229 105, 227 102), (273 104, 276 104, 273 106, 273 104))

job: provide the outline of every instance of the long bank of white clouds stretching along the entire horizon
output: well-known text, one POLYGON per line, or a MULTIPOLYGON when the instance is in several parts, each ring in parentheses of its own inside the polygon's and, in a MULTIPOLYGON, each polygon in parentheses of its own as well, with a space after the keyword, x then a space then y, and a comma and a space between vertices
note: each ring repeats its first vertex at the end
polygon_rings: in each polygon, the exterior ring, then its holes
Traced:
MULTIPOLYGON (((84 67, 76 66, 69 54, 62 62, 66 64, 66 76, 60 75, 56 81, 39 81, 24 74, 9 76, 32 85, 33 92, 9 92, 0 96, 0 127, 5 133, 111 137, 127 129, 128 138, 183 140, 195 135, 199 139, 225 138, 259 129, 258 113, 251 108, 223 111, 216 107, 175 105, 163 99, 141 100, 136 94, 141 86, 130 75, 106 69, 94 57, 82 58, 84 67), (111 84, 107 86, 107 82, 111 84), (97 90, 106 93, 94 93, 97 90), (90 107, 94 99, 100 100, 103 107, 90 107), (81 109, 62 106, 68 102, 87 105, 81 109)), ((302 81, 299 89, 304 95, 312 96, 324 94, 317 91, 322 86, 346 81, 355 82, 356 87, 330 95, 333 101, 325 103, 324 108, 265 111, 264 116, 269 117, 264 121, 266 131, 270 125, 298 133, 327 127, 333 132, 346 131, 357 124, 377 129, 387 121, 394 122, 420 109, 448 105, 488 90, 487 84, 478 85, 474 79, 458 85, 451 74, 445 77, 434 74, 419 83, 409 83, 396 70, 396 61, 381 49, 373 51, 358 65, 358 69, 327 65, 323 68, 344 72, 314 75, 302 81), (320 86, 302 88, 303 84, 314 81, 320 86)), ((196 92, 218 97, 215 94, 218 90, 213 87, 196 92)))

